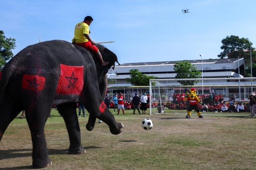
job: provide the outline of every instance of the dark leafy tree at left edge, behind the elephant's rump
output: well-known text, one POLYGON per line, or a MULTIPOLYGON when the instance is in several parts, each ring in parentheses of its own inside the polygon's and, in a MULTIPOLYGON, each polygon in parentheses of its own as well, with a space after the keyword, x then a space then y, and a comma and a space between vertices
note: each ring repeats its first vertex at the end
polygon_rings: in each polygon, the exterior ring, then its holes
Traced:
POLYGON ((15 49, 14 38, 7 38, 4 32, 0 30, 0 67, 4 66, 7 61, 13 57, 12 49, 15 49))

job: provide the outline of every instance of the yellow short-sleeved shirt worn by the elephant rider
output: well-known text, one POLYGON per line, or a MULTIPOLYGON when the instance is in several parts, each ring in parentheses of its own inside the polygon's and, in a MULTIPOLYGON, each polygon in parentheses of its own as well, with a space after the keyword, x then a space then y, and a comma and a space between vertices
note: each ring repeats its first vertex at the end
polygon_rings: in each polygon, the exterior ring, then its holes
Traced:
POLYGON ((86 43, 89 40, 83 35, 89 34, 89 26, 84 22, 79 22, 75 25, 74 37, 72 42, 75 39, 75 43, 86 43))

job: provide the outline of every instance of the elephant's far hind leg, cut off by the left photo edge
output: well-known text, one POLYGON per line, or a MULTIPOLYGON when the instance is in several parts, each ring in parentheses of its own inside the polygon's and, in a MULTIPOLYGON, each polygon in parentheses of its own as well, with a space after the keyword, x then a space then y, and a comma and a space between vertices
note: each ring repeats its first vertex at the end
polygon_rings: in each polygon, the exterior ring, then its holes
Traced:
POLYGON ((14 106, 9 102, 8 98, 3 98, 0 104, 0 141, 1 138, 11 123, 11 121, 23 110, 23 106, 14 106))

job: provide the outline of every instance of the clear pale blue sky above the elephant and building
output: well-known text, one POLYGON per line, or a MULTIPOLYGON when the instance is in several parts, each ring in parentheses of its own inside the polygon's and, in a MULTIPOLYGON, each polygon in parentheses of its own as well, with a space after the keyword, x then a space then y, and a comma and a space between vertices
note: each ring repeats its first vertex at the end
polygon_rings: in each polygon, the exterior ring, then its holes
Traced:
POLYGON ((28 45, 71 42, 85 16, 95 42, 119 63, 215 59, 226 36, 248 38, 256 47, 256 0, 4 0, 0 30, 16 39, 14 54, 28 45), (190 13, 182 13, 189 9, 190 13))

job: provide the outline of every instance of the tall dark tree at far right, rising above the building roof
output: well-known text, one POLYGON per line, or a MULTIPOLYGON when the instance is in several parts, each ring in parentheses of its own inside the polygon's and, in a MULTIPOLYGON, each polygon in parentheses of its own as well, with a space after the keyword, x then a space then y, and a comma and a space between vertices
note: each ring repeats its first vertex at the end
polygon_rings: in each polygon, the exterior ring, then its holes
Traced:
MULTIPOLYGON (((223 59, 225 57, 229 58, 244 58, 245 65, 246 65, 246 76, 250 75, 250 46, 252 46, 252 42, 249 41, 248 38, 239 38, 239 36, 227 36, 226 38, 222 39, 221 41, 222 46, 220 49, 223 50, 218 57, 223 59)), ((252 50, 252 60, 256 59, 256 52, 254 51, 255 48, 251 47, 252 50)), ((255 68, 256 64, 252 63, 252 68, 255 68)), ((254 72, 253 76, 256 76, 254 72)))

